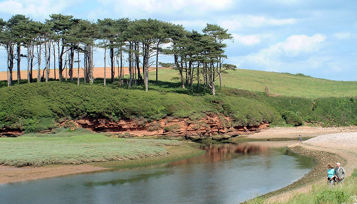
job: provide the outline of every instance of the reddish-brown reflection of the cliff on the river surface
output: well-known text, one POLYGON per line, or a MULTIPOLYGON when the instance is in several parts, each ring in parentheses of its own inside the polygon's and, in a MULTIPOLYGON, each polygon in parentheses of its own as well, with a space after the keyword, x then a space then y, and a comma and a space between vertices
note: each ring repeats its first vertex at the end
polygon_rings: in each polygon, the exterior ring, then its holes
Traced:
POLYGON ((204 163, 210 161, 220 161, 220 160, 238 158, 239 156, 243 156, 243 155, 256 155, 256 154, 269 152, 269 147, 262 146, 262 145, 251 145, 248 143, 201 145, 200 149, 205 150, 206 153, 201 156, 174 161, 170 164, 170 166, 182 165, 188 163, 204 163))

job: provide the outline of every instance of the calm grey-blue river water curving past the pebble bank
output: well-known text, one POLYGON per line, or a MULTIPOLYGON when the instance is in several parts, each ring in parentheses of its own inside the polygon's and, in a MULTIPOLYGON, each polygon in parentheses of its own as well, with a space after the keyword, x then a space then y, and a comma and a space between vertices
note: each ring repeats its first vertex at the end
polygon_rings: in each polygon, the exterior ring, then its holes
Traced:
POLYGON ((0 203, 240 203, 311 170, 311 158, 280 146, 206 145, 204 155, 167 164, 3 184, 0 203))

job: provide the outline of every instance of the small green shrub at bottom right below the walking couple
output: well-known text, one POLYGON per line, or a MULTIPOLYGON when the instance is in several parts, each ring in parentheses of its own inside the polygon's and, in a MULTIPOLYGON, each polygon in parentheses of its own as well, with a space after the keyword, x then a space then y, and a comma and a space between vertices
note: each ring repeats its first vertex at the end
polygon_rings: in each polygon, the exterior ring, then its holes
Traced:
POLYGON ((323 190, 317 195, 317 204, 336 203, 342 204, 350 199, 350 195, 340 190, 323 190))

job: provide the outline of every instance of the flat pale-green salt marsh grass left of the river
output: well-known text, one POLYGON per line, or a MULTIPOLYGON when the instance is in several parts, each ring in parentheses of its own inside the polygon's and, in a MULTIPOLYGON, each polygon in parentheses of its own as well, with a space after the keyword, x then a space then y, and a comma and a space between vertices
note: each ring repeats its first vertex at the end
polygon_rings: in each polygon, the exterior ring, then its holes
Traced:
POLYGON ((167 154, 164 146, 178 146, 170 140, 110 138, 97 133, 25 134, 0 138, 0 164, 41 166, 85 162, 128 160, 167 154))

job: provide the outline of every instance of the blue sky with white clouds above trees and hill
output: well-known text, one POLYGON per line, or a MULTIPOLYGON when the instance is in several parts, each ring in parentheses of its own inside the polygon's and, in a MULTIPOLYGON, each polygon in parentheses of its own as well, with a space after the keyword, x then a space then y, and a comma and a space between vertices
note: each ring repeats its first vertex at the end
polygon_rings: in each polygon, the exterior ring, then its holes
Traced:
MULTIPOLYGON (((199 32, 217 24, 234 37, 225 41, 225 63, 339 81, 357 81, 356 11, 356 0, 0 0, 4 20, 24 14, 44 22, 53 13, 93 22, 153 18, 199 32)), ((96 67, 104 66, 103 55, 97 49, 96 67)), ((1 48, 0 71, 5 66, 1 48)))

